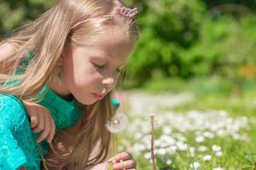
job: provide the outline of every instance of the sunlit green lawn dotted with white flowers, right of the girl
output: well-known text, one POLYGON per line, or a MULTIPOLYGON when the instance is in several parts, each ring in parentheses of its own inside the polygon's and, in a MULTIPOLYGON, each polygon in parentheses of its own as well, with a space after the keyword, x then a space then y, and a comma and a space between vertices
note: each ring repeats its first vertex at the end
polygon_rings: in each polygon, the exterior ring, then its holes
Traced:
POLYGON ((172 83, 168 90, 165 81, 148 84, 139 90, 152 99, 155 96, 157 101, 134 93, 138 99, 142 97, 137 103, 148 104, 144 106, 145 114, 136 113, 130 104, 128 113, 131 127, 121 135, 124 146, 121 148, 134 153, 137 169, 152 169, 147 147, 150 141, 147 105, 154 104, 155 116, 159 119, 155 129, 155 152, 160 170, 256 169, 256 93, 253 88, 247 88, 240 95, 230 94, 227 92, 228 85, 223 87, 226 82, 221 82, 216 88, 218 83, 213 81, 215 88, 210 89, 213 86, 211 81, 208 82, 211 85, 207 86, 207 83, 200 81, 185 83, 168 80, 168 84, 172 83), (158 87, 159 84, 164 87, 164 91, 158 87), (194 97, 172 108, 167 107, 168 103, 166 107, 161 107, 160 95, 172 94, 173 98, 175 91, 175 94, 185 91, 194 97))

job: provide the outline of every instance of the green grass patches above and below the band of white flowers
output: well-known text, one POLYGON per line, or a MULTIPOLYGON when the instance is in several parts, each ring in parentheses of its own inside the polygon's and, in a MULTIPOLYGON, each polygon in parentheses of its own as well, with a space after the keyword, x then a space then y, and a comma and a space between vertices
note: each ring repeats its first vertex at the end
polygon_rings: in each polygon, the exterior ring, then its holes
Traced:
MULTIPOLYGON (((163 92, 181 93, 189 92, 195 94, 195 99, 185 105, 179 105, 172 111, 184 114, 187 111, 227 111, 229 116, 236 117, 247 116, 249 118, 256 117, 256 83, 246 82, 243 84, 240 94, 234 94, 231 82, 225 82, 219 77, 211 77, 209 79, 199 78, 189 82, 183 82, 180 79, 159 79, 148 82, 145 88, 141 89, 149 94, 159 94, 163 92), (255 87, 255 90, 254 90, 255 87)), ((200 163, 198 169, 213 169, 214 167, 222 167, 223 169, 241 169, 253 170, 256 169, 256 125, 249 122, 248 129, 241 129, 241 134, 248 136, 246 141, 234 140, 230 136, 214 139, 207 139, 200 143, 208 148, 212 144, 218 144, 222 148, 223 156, 215 156, 212 150, 207 150, 205 153, 195 151, 195 156, 191 156, 187 151, 178 151, 176 155, 166 153, 163 156, 158 156, 158 165, 160 170, 170 169, 197 169, 189 165, 195 161, 200 163), (211 161, 202 160, 202 155, 212 156, 211 161), (167 165, 165 160, 171 159, 172 163, 167 165)), ((157 132, 157 136, 161 133, 157 132)), ((186 142, 191 147, 197 148, 198 143, 195 142, 195 132, 185 133, 186 142)), ((131 137, 132 141, 132 137, 131 137)), ((137 141, 132 141, 136 143, 137 141)), ((143 157, 142 152, 137 156, 137 169, 149 170, 151 165, 149 160, 143 157)))

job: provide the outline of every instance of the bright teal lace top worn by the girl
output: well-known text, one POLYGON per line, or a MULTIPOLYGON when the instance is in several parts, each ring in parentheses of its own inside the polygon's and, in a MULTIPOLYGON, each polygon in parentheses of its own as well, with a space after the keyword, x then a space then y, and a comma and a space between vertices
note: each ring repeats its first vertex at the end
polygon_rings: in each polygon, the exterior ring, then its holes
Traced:
MULTIPOLYGON (((32 53, 27 56, 28 59, 33 58, 32 53)), ((28 65, 28 60, 24 59, 15 75, 22 74, 26 65, 28 65)), ((19 81, 4 82, 1 86, 15 85, 15 83, 19 83, 19 81)), ((40 94, 45 90, 47 90, 46 86, 40 94)), ((112 99, 112 103, 114 107, 119 105, 115 99, 112 99)), ((67 101, 50 88, 39 104, 49 109, 56 129, 73 126, 82 115, 75 98, 72 101, 67 101)), ((26 170, 40 169, 41 156, 47 153, 49 144, 46 140, 40 144, 36 143, 39 133, 32 133, 25 106, 20 99, 13 95, 0 94, 0 136, 0 170, 15 170, 19 167, 26 167, 26 170)))

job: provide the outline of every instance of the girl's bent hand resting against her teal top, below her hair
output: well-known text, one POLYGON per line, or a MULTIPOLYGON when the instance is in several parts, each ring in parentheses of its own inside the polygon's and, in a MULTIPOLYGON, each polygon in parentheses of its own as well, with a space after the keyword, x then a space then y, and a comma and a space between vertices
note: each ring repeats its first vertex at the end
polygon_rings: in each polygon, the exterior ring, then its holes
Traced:
POLYGON ((55 135, 55 122, 49 110, 35 103, 28 103, 26 101, 23 101, 23 103, 26 107, 27 115, 30 116, 32 132, 41 132, 37 142, 40 143, 47 138, 47 142, 51 143, 55 135))

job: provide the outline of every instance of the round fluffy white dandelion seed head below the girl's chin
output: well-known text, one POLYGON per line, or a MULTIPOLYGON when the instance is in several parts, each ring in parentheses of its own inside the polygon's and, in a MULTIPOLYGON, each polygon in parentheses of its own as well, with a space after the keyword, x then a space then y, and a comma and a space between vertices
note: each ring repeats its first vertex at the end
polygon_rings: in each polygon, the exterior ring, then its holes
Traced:
POLYGON ((105 124, 110 133, 119 133, 125 130, 129 124, 129 119, 125 113, 117 113, 105 124))

